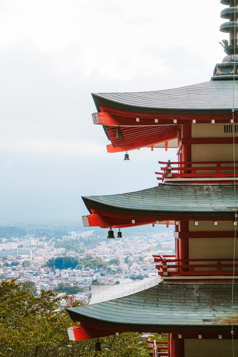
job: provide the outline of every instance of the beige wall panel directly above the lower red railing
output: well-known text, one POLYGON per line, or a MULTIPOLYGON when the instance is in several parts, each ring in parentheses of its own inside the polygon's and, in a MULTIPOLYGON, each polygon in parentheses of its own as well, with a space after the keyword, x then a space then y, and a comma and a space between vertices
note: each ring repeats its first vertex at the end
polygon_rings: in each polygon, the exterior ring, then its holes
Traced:
POLYGON ((189 259, 233 258, 233 253, 234 238, 189 238, 189 259))

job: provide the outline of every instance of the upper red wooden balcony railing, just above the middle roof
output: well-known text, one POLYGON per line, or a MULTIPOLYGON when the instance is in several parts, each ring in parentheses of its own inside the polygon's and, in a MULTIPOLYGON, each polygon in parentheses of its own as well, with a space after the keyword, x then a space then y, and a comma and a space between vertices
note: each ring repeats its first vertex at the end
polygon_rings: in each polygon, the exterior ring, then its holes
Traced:
MULTIPOLYGON (((178 161, 178 162, 163 162, 159 161, 159 164, 165 164, 165 167, 160 169, 163 172, 156 172, 157 180, 163 180, 164 178, 196 178, 196 177, 212 177, 212 178, 225 178, 234 177, 234 169, 238 170, 238 161, 178 161), (171 165, 177 165, 172 167, 171 165), (196 166, 196 165, 209 165, 209 166, 196 166), (222 166, 231 165, 231 166, 222 166), (177 172, 172 172, 177 171, 177 172), (198 172, 203 171, 203 172, 198 172), (205 172, 204 172, 205 171, 205 172), (210 171, 210 172, 209 172, 210 171), (213 171, 213 172, 211 172, 213 171)), ((238 172, 236 172, 238 177, 238 172)))

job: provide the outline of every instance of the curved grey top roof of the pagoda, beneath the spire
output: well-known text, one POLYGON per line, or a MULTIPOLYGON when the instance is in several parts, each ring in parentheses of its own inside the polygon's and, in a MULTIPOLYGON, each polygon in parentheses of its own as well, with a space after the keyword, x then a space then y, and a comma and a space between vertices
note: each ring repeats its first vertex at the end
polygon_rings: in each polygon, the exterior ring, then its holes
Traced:
MULTIPOLYGON (((216 111, 233 108, 233 81, 219 80, 174 89, 135 93, 93 93, 99 105, 143 112, 216 111)), ((234 108, 238 108, 238 81, 234 87, 234 108)))

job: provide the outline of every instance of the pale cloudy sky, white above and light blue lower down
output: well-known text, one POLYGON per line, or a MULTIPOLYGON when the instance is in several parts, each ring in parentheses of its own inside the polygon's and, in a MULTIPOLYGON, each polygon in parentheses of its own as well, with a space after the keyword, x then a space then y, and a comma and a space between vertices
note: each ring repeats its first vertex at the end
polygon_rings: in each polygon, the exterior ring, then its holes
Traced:
POLYGON ((219 0, 0 0, 0 220, 79 217, 81 196, 157 186, 175 149, 108 154, 91 92, 210 80, 219 0))

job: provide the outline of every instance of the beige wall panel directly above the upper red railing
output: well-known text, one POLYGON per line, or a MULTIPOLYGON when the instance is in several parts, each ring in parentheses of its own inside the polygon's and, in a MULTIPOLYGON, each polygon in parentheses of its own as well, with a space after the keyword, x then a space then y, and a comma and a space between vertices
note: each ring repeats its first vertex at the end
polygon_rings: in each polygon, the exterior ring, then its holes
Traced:
MULTIPOLYGON (((238 144, 235 144, 238 158, 238 144)), ((233 144, 192 144, 192 161, 233 161, 233 144)))

